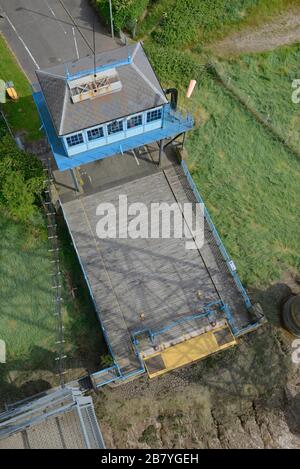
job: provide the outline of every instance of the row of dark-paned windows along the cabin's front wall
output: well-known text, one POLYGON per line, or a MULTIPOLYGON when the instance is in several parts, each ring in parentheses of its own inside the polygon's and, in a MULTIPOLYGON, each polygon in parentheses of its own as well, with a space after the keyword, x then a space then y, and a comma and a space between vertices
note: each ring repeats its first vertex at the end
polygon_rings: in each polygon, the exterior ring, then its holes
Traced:
MULTIPOLYGON (((162 109, 155 109, 154 111, 148 111, 146 116, 147 124, 150 122, 154 122, 156 120, 160 120, 162 117, 162 109)), ((133 129, 134 127, 139 127, 143 124, 143 115, 138 114, 137 116, 130 117, 127 119, 127 129, 133 129)), ((124 121, 114 121, 107 125, 107 133, 108 135, 116 134, 118 132, 123 131, 124 121)), ((93 140, 97 140, 98 138, 104 137, 104 130, 103 127, 96 127, 95 129, 91 129, 87 131, 87 137, 89 142, 93 140)), ((66 138, 68 147, 73 147, 75 145, 80 145, 84 143, 83 134, 78 133, 71 135, 70 137, 66 138)))

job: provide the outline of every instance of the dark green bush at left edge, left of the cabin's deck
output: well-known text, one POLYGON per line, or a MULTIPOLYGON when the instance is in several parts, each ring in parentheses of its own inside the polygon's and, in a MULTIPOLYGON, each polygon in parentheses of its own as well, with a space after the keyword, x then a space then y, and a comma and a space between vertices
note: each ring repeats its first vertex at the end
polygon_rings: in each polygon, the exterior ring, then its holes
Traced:
POLYGON ((34 214, 35 202, 44 188, 42 163, 20 150, 5 135, 0 139, 0 203, 19 220, 28 221, 34 214))

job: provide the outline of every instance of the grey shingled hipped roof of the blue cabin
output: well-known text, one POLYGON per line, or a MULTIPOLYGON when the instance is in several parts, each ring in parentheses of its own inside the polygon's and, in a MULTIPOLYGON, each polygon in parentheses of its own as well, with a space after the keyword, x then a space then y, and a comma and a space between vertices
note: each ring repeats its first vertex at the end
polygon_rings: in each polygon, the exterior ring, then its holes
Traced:
POLYGON ((126 60, 128 55, 132 57, 132 62, 117 68, 122 83, 121 91, 75 104, 71 100, 67 72, 75 74, 92 70, 92 56, 36 72, 58 135, 66 135, 167 103, 140 43, 98 54, 96 65, 99 67, 126 60))

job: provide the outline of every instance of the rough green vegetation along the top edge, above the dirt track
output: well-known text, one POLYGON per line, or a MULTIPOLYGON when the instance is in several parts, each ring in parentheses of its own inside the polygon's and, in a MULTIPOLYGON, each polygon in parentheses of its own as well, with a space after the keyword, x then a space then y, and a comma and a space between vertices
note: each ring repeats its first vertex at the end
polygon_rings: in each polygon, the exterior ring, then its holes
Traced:
POLYGON ((167 46, 206 46, 245 26, 261 24, 299 0, 160 0, 153 2, 139 25, 140 37, 167 46))

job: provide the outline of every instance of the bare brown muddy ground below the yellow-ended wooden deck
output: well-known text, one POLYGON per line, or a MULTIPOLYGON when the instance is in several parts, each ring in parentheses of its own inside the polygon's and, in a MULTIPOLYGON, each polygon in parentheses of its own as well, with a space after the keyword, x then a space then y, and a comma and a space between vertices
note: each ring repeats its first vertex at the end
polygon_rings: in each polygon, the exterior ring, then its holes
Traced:
POLYGON ((238 347, 95 398, 110 448, 298 448, 300 369, 267 324, 238 347))

